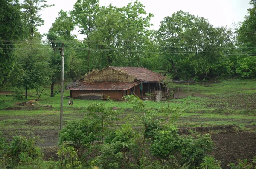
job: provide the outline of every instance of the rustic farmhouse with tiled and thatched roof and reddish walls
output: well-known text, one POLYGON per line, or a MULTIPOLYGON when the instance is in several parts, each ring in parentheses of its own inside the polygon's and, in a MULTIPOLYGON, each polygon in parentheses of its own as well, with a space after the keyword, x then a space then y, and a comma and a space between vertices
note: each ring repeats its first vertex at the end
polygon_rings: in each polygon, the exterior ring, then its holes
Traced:
POLYGON ((93 70, 84 79, 66 86, 72 98, 122 100, 123 96, 134 94, 145 99, 149 93, 160 93, 164 76, 143 67, 107 67, 93 70), (147 93, 147 94, 146 94, 147 93))

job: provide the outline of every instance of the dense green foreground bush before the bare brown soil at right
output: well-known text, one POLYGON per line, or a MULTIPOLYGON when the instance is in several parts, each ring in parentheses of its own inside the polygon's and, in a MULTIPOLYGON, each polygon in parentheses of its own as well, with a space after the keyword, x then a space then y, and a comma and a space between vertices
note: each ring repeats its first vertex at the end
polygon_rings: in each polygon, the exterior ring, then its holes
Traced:
POLYGON ((200 166, 208 152, 213 150, 214 144, 209 134, 186 138, 177 133, 175 127, 161 130, 155 136, 151 145, 152 155, 161 159, 176 159, 180 165, 200 166))

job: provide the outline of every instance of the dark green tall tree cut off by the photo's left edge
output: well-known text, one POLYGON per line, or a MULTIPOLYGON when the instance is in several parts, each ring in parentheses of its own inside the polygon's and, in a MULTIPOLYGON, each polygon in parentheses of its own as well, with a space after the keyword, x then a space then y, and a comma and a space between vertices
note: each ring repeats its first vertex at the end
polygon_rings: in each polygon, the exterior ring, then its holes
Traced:
POLYGON ((0 0, 0 85, 9 79, 15 63, 15 43, 25 37, 19 0, 0 0))

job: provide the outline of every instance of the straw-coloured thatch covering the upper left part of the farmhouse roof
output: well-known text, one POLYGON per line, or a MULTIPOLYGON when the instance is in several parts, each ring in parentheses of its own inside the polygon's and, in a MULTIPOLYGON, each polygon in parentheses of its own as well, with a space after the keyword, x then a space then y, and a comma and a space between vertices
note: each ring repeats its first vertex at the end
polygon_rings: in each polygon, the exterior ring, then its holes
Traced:
POLYGON ((103 70, 92 70, 85 74, 84 82, 134 82, 135 77, 125 71, 105 68, 103 70))

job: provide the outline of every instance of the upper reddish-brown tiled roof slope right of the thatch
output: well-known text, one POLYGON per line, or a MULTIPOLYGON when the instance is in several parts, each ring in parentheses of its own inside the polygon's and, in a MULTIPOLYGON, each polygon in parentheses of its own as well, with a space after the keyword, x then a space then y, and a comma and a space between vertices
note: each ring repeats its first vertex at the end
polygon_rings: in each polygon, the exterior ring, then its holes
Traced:
POLYGON ((136 79, 140 82, 161 82, 163 79, 165 79, 164 76, 155 73, 151 70, 148 70, 143 67, 114 67, 111 66, 111 68, 114 68, 116 70, 123 70, 127 72, 128 74, 131 74, 133 76, 136 76, 136 79))

